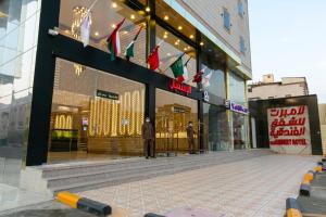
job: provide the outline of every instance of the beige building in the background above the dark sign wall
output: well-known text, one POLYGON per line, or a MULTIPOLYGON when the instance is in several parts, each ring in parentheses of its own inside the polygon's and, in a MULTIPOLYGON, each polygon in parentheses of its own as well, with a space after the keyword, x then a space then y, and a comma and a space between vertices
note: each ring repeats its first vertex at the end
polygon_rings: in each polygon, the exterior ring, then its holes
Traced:
POLYGON ((266 100, 308 95, 309 88, 305 77, 283 77, 280 81, 274 80, 274 75, 263 76, 260 82, 248 85, 249 100, 266 100))

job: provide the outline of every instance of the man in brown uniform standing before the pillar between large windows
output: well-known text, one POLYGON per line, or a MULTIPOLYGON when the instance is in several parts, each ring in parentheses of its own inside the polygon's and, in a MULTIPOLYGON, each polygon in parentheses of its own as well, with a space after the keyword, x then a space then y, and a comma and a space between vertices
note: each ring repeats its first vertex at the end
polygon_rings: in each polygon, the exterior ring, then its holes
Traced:
POLYGON ((154 129, 150 122, 150 118, 147 117, 146 122, 141 127, 141 135, 143 139, 143 155, 148 159, 150 156, 155 157, 154 153, 154 129))

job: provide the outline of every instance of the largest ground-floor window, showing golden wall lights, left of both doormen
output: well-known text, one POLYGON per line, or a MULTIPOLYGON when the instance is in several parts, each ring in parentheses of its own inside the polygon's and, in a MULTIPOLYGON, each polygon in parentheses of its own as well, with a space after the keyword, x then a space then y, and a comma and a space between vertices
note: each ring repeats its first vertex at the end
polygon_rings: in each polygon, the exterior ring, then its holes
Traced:
POLYGON ((49 161, 142 155, 145 85, 57 59, 49 161))

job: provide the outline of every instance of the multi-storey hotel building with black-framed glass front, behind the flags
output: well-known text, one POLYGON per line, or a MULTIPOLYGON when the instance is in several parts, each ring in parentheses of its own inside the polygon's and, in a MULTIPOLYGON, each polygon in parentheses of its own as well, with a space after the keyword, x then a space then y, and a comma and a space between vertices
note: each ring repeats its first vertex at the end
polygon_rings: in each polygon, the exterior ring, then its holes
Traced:
POLYGON ((186 152, 189 120, 200 151, 249 148, 247 0, 5 0, 0 50, 2 183, 17 186, 22 165, 141 155, 145 117, 154 124, 156 153, 186 152), (84 48, 79 26, 93 2, 84 48), (106 38, 123 18, 122 52, 110 61, 106 38), (159 43, 153 72, 147 56, 159 43), (184 84, 170 68, 181 53, 184 84), (191 79, 203 68, 205 89, 191 79))

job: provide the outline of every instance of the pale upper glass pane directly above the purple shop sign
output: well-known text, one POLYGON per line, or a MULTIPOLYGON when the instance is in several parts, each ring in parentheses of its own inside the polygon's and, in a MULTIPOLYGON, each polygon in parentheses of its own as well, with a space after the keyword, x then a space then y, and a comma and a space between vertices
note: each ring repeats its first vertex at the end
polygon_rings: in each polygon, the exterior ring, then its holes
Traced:
POLYGON ((246 90, 243 78, 234 73, 229 74, 229 95, 233 102, 246 105, 246 90))

